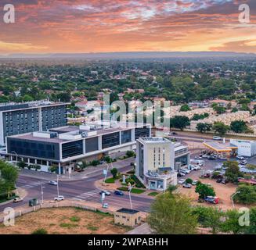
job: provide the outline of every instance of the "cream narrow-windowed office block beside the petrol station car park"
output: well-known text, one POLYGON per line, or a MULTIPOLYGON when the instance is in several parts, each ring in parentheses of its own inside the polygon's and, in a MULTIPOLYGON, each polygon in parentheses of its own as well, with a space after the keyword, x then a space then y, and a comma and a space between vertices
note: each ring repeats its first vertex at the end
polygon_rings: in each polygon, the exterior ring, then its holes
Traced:
POLYGON ((188 147, 164 137, 137 140, 135 174, 152 190, 165 190, 177 184, 177 170, 190 162, 188 147))

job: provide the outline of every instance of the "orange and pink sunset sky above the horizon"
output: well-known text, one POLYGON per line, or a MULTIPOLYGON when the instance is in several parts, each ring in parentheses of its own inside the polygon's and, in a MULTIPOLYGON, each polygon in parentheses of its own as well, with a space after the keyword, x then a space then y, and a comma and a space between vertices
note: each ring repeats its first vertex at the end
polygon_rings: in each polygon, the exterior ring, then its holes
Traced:
POLYGON ((0 0, 0 53, 256 52, 256 0, 0 0), (247 3, 251 23, 238 21, 247 3))

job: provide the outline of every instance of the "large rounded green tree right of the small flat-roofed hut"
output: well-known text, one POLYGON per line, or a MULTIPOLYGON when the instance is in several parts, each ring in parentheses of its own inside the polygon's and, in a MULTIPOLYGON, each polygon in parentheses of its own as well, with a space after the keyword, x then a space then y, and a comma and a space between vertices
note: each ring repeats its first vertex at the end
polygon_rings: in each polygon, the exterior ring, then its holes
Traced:
POLYGON ((166 192, 151 205, 147 222, 157 234, 195 234, 197 216, 188 198, 166 192))

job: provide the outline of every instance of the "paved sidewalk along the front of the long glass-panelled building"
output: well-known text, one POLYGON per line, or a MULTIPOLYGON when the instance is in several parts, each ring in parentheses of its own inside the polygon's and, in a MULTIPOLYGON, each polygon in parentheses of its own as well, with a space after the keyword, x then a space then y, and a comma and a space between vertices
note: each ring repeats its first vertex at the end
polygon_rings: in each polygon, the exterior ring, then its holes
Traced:
MULTIPOLYGON (((130 166, 131 162, 135 162, 135 159, 133 157, 124 159, 124 160, 118 160, 117 162, 113 162, 113 167, 117 168, 117 170, 119 170, 125 166, 130 166)), ((111 168, 111 164, 109 166, 111 168)), ((132 166, 131 166, 131 168, 132 168, 132 166)), ((98 166, 88 166, 84 172, 70 173, 70 177, 69 177, 68 173, 59 175, 59 180, 64 180, 64 181, 83 180, 83 179, 87 179, 89 177, 94 177, 99 174, 103 175, 104 169, 106 169, 106 164, 101 164, 98 166)), ((33 171, 33 170, 20 170, 20 176, 34 177, 34 178, 39 178, 41 180, 56 180, 56 178, 57 178, 56 173, 38 172, 38 171, 33 171)))

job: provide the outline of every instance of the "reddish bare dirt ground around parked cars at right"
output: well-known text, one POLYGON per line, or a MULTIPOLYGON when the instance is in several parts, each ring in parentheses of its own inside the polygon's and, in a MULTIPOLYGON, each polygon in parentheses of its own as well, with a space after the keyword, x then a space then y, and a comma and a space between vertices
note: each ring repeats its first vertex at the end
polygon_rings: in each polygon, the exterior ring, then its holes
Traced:
MULTIPOLYGON (((233 209, 233 205, 230 199, 230 196, 233 195, 236 192, 236 185, 235 184, 219 184, 216 183, 216 180, 211 179, 197 179, 200 180, 204 184, 211 184, 212 187, 215 189, 216 196, 218 196, 219 204, 214 205, 215 207, 218 207, 223 210, 233 209)), ((192 202, 194 205, 212 205, 207 203, 198 203, 198 194, 195 192, 195 186, 192 188, 184 188, 181 185, 178 185, 178 192, 180 192, 183 195, 187 195, 189 198, 192 199, 192 202)), ((240 207, 244 207, 244 205, 238 205, 235 204, 236 209, 239 209, 240 207)))

